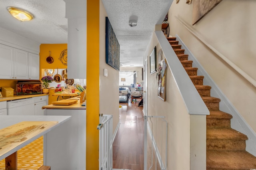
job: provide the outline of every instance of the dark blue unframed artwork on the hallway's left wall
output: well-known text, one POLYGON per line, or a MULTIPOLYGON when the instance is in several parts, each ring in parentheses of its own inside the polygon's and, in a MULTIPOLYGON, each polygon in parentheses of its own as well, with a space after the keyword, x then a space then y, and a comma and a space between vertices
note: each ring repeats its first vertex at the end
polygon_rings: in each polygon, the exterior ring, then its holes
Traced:
POLYGON ((106 63, 120 70, 120 45, 108 17, 106 17, 106 63))

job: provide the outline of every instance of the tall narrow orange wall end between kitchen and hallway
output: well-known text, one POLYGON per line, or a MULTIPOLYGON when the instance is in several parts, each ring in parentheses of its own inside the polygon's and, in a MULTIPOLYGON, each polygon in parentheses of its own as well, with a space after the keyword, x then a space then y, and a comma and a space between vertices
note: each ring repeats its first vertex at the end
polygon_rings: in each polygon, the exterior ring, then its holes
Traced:
POLYGON ((86 169, 99 169, 100 3, 87 1, 86 169), (93 57, 92 57, 93 56, 93 57))

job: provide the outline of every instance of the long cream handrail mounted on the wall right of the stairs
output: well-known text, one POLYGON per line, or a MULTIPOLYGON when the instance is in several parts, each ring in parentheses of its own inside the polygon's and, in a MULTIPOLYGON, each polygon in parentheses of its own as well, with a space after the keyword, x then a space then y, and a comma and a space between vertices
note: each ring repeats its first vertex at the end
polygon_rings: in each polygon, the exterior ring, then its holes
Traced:
POLYGON ((250 75, 245 73, 242 69, 240 69, 236 64, 234 64, 232 61, 230 61, 227 57, 225 57, 220 51, 218 51, 216 48, 214 48, 210 43, 208 43, 200 34, 198 34, 193 28, 188 26, 184 21, 182 21, 181 18, 178 16, 174 16, 180 24, 182 24, 189 32, 191 32, 198 40, 200 40, 204 45, 206 45, 208 48, 210 48, 214 53, 216 53, 220 58, 222 58, 230 67, 232 67, 234 70, 236 70, 240 75, 242 75, 247 81, 251 83, 254 87, 256 87, 256 80, 254 80, 250 75))

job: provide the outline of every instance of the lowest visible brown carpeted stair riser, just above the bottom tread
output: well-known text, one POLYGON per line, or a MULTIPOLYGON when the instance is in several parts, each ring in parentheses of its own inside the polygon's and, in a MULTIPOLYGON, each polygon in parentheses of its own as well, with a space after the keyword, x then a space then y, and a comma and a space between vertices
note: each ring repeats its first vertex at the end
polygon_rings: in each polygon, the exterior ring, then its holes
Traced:
POLYGON ((245 140, 206 139, 207 150, 245 150, 245 147, 245 140))

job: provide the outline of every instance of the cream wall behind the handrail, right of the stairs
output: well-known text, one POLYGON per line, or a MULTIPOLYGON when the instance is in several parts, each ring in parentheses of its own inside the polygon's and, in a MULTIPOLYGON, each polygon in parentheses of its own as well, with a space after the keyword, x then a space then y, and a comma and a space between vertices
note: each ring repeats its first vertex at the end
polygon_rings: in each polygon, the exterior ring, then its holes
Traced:
POLYGON ((256 132, 256 88, 195 38, 180 22, 194 28, 204 40, 256 80, 255 0, 223 0, 192 26, 192 4, 173 2, 169 12, 170 35, 180 36, 221 91, 256 132))

